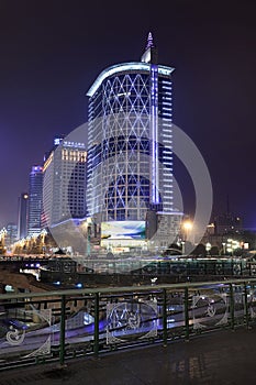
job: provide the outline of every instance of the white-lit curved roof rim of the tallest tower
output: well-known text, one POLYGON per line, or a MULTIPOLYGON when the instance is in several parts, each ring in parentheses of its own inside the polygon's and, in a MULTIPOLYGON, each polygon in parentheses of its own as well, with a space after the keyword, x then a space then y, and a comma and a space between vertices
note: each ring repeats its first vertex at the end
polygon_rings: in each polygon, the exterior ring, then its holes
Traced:
MULTIPOLYGON (((158 74, 162 76, 170 76, 170 74, 175 70, 172 67, 157 65, 158 74)), ((129 62, 129 63, 121 63, 115 64, 113 66, 110 66, 102 70, 102 73, 98 76, 93 85, 90 87, 90 89, 87 92, 88 97, 92 97, 102 81, 107 79, 108 77, 112 75, 116 75, 119 73, 125 73, 125 72, 149 72, 151 70, 151 63, 143 63, 143 62, 129 62)))

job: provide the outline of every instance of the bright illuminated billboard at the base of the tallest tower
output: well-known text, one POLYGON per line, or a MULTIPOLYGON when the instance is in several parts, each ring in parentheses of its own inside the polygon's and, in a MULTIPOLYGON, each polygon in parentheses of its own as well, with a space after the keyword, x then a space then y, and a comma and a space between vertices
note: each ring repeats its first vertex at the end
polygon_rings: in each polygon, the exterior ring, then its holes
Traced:
POLYGON ((112 221, 101 223, 102 240, 145 240, 145 221, 112 221))

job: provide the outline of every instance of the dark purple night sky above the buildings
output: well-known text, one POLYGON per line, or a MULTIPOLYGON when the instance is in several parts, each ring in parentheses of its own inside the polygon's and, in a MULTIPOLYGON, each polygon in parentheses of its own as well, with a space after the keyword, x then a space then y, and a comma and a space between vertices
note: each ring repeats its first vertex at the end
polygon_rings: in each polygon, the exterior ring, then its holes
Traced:
MULTIPOLYGON (((16 221, 18 196, 53 136, 87 121, 99 73, 140 61, 148 31, 159 63, 176 68, 174 122, 205 160, 213 215, 229 195, 231 211, 256 228, 255 14, 249 0, 1 0, 0 228, 16 221)), ((189 210, 189 180, 176 176, 189 210)))

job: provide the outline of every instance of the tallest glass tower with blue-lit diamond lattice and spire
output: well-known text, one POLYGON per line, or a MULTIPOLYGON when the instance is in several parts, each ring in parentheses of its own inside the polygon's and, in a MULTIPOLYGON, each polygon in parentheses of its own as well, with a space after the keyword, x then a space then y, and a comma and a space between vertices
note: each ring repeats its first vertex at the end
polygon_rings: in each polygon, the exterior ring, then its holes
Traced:
MULTIPOLYGON (((152 34, 141 62, 104 69, 90 87, 88 125, 89 216, 102 238, 145 238, 146 217, 177 222, 172 197, 172 67, 159 65, 152 34), (175 221, 174 221, 175 220, 175 221)), ((178 213, 178 222, 181 213, 178 213)), ((148 221, 147 221, 148 222, 148 221)), ((156 226, 157 228, 157 226, 156 226)), ((176 228, 176 227, 175 227, 176 228)))

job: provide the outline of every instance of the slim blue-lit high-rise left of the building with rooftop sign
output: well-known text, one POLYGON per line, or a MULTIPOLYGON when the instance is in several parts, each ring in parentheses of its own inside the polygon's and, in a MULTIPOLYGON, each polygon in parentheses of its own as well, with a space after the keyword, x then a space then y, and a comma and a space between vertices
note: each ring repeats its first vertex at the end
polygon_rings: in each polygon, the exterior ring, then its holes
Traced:
POLYGON ((41 217, 43 207, 43 167, 33 166, 30 173, 29 191, 29 235, 38 235, 42 230, 41 217))

